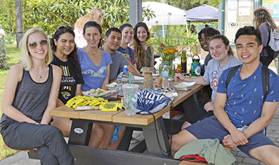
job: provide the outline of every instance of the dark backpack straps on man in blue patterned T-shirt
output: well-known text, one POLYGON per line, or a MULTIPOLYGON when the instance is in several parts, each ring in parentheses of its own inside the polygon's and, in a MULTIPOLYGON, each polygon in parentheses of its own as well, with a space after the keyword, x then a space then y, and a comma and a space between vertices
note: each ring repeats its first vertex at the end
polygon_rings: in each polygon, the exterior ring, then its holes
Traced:
MULTIPOLYGON (((240 65, 235 66, 232 70, 227 74, 226 79, 226 87, 229 85, 232 77, 234 77, 237 70, 239 70, 240 65)), ((262 65, 262 90, 264 92, 264 101, 266 100, 266 96, 269 93, 269 69, 262 65)), ((266 127, 264 128, 266 134, 266 127)))

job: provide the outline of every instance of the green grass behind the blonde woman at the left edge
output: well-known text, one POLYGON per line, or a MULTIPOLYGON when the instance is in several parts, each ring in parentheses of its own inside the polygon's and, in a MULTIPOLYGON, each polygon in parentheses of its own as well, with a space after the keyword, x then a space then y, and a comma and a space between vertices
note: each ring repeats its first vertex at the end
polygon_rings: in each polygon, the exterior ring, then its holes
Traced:
MULTIPOLYGON (((17 45, 7 45, 8 49, 8 64, 13 66, 18 63, 18 59, 20 59, 20 48, 17 48, 17 45)), ((0 71, 0 115, 2 115, 1 107, 2 107, 2 97, 3 97, 3 87, 5 87, 6 78, 8 76, 8 71, 0 71)), ((17 151, 14 150, 4 150, 3 146, 3 138, 0 134, 0 159, 4 159, 6 157, 10 157, 11 155, 15 155, 17 151)))

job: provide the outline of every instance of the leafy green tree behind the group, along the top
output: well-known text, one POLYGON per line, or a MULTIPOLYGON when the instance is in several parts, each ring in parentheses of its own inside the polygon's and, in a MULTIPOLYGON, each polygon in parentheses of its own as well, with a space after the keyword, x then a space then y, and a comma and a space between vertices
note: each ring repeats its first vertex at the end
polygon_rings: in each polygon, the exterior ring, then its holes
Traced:
MULTIPOLYGON (((33 26, 42 28, 47 34, 53 34, 60 25, 74 27, 75 21, 93 8, 105 10, 104 31, 128 22, 129 16, 128 0, 29 0, 27 8, 33 26)), ((148 9, 143 13, 143 16, 153 16, 148 9)))

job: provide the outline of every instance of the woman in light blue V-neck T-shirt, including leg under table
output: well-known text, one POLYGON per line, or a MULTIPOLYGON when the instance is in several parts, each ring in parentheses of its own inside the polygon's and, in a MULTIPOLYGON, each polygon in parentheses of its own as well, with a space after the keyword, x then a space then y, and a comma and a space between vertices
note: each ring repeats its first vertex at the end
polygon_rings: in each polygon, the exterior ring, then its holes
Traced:
MULTIPOLYGON (((103 41, 102 27, 95 21, 86 22, 83 28, 83 35, 87 45, 77 50, 77 56, 82 68, 82 77, 84 79, 82 90, 88 91, 97 88, 107 89, 105 85, 109 83, 112 58, 110 53, 100 50, 103 41)), ((94 146, 108 148, 112 141, 115 126, 94 123, 93 127, 98 128, 98 130, 103 130, 100 131, 103 133, 103 138, 101 141, 96 141, 94 146)))

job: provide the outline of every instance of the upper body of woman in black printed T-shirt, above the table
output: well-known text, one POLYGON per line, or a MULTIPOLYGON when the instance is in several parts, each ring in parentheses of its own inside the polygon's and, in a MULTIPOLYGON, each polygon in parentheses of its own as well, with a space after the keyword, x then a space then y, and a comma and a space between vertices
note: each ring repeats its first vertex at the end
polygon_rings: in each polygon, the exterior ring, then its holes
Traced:
POLYGON ((77 58, 75 33, 71 27, 59 27, 50 40, 52 64, 62 69, 57 106, 62 106, 74 96, 82 95, 82 70, 77 58))

